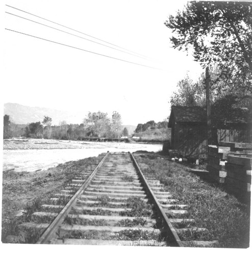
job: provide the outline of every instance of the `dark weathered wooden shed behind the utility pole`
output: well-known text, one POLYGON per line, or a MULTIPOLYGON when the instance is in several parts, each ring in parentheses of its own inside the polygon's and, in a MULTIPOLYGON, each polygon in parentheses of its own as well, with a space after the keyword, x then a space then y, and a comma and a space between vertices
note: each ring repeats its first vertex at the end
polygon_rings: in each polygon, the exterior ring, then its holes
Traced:
MULTIPOLYGON (((221 113, 212 117, 212 144, 223 142, 251 143, 251 118, 247 110, 221 113)), ((207 111, 200 106, 171 106, 168 122, 171 149, 187 158, 207 158, 207 111)))

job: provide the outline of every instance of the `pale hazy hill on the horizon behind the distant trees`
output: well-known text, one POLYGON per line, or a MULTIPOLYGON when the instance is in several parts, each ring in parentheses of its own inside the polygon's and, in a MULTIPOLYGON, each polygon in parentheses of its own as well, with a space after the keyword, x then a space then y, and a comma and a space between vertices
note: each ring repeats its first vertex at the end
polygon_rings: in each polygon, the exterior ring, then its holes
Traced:
POLYGON ((86 114, 40 108, 38 106, 24 106, 17 103, 5 103, 4 115, 9 115, 11 122, 16 124, 42 122, 44 116, 49 116, 52 118, 52 124, 58 125, 61 121, 81 123, 86 114))

